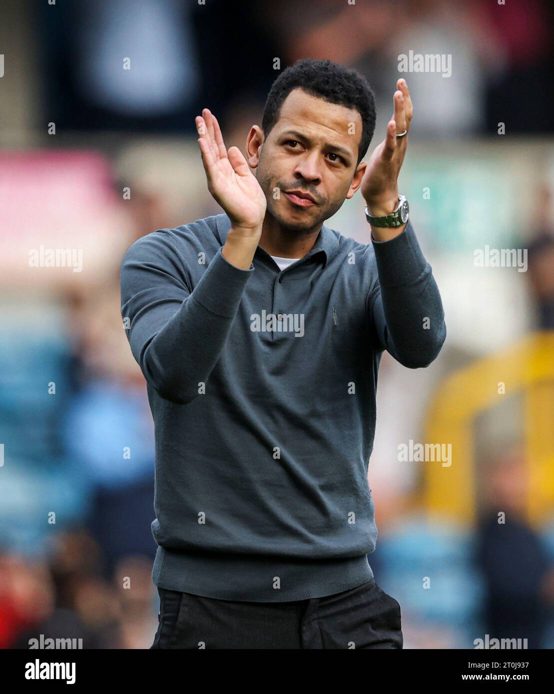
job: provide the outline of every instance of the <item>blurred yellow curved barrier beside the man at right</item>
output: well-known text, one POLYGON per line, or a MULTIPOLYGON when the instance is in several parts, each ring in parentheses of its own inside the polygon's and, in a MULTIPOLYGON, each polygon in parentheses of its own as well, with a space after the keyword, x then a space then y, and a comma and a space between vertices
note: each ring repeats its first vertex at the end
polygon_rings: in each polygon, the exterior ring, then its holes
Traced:
POLYGON ((464 525, 476 521, 473 421, 521 393, 530 484, 528 520, 539 525, 554 509, 554 331, 535 332, 517 344, 472 362, 442 382, 433 396, 426 422, 426 441, 452 446, 452 462, 424 464, 423 500, 430 517, 464 525), (505 383, 506 395, 499 384, 505 383))

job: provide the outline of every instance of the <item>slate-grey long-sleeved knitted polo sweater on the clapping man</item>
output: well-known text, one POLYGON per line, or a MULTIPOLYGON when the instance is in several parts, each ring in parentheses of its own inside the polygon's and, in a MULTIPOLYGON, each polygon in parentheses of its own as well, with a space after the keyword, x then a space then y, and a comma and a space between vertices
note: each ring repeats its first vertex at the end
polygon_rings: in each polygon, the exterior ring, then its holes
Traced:
POLYGON ((156 428, 153 582, 282 602, 373 577, 367 482, 380 357, 428 366, 442 302, 411 222, 369 244, 323 226, 283 271, 221 253, 226 214, 138 239, 121 316, 156 428), (428 319, 428 320, 426 320, 428 319))

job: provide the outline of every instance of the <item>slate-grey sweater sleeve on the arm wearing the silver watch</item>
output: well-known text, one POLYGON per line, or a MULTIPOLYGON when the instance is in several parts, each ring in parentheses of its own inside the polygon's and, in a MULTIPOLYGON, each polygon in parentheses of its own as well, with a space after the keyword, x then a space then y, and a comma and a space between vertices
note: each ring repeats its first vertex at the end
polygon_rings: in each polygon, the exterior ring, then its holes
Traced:
POLYGON ((394 239, 371 237, 371 242, 378 278, 367 303, 376 338, 403 366, 428 366, 446 339, 446 325, 439 289, 412 223, 394 239))

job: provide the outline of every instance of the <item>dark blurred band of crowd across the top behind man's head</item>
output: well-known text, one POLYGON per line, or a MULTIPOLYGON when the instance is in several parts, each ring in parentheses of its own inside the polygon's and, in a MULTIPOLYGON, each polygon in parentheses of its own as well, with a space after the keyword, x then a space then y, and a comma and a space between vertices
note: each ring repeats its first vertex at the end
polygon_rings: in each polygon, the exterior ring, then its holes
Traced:
POLYGON ((398 56, 411 50, 452 60, 449 78, 405 75, 418 94, 414 135, 494 134, 499 122, 510 134, 551 133, 552 12, 546 0, 44 6, 36 17, 44 110, 69 130, 194 133, 194 117, 209 103, 230 128, 237 112, 263 106, 275 58, 288 65, 310 56, 360 69, 389 117, 398 56), (124 58, 131 67, 122 79, 124 58))

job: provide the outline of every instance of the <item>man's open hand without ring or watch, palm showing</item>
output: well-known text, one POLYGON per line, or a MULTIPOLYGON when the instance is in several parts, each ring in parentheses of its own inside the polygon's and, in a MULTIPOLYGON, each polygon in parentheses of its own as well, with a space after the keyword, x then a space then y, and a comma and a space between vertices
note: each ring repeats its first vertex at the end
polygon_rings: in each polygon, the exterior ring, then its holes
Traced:
POLYGON ((230 219, 233 236, 257 242, 267 205, 258 180, 238 147, 227 152, 219 123, 208 108, 196 116, 196 130, 208 190, 230 219))

